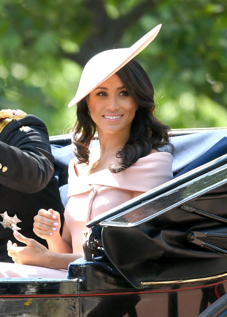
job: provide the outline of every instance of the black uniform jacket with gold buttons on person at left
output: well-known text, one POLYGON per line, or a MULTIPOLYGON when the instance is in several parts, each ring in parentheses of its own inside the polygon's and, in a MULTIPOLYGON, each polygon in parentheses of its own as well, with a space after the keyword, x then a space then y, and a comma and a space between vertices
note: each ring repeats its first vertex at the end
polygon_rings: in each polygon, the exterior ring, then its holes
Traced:
MULTIPOLYGON (((54 157, 45 124, 33 115, 8 123, 0 133, 0 214, 7 211, 20 233, 47 246, 33 232, 34 216, 41 208, 53 208, 62 215, 63 206, 54 177, 54 157)), ((0 221, 3 218, 0 216, 0 221)), ((63 222, 62 222, 63 226, 63 222)), ((13 230, 0 223, 0 261, 12 262, 7 255, 7 241, 18 245, 13 230)))

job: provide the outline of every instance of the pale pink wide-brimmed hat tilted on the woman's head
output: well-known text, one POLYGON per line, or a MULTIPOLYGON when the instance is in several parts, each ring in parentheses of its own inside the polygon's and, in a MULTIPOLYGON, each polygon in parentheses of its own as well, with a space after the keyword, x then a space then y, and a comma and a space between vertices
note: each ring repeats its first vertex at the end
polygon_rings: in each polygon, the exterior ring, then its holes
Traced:
POLYGON ((150 44, 159 33, 161 24, 157 25, 139 41, 126 49, 110 49, 93 56, 85 65, 75 97, 69 102, 72 107, 103 81, 115 74, 150 44))

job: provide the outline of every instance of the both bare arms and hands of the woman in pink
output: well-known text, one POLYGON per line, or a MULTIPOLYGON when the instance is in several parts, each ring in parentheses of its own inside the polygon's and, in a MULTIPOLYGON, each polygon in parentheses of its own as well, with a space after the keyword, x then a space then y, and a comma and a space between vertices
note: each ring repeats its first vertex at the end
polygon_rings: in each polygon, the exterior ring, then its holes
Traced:
POLYGON ((62 236, 60 235, 61 223, 57 211, 41 209, 34 220, 34 232, 47 240, 49 249, 36 240, 26 238, 15 231, 16 240, 26 246, 18 247, 16 243, 12 244, 11 241, 7 243, 8 255, 12 257, 13 261, 46 268, 67 269, 70 262, 83 256, 82 231, 86 228, 84 221, 77 221, 72 248, 71 234, 65 223, 62 236))

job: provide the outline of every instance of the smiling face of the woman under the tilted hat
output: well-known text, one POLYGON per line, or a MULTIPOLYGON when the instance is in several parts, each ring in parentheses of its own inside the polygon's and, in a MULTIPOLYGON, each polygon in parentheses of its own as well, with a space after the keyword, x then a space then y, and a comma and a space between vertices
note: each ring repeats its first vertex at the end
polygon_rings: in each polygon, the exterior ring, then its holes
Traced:
POLYGON ((129 137, 138 104, 129 96, 118 75, 112 75, 95 88, 86 101, 99 134, 121 133, 129 137))

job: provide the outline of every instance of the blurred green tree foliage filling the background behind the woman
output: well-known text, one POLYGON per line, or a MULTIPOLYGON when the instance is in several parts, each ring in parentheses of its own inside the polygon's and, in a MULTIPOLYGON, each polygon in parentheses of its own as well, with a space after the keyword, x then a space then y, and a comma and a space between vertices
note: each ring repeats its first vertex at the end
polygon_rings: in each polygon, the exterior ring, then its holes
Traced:
POLYGON ((39 116, 49 134, 69 131, 82 67, 129 47, 157 24, 137 60, 171 126, 227 126, 227 3, 220 0, 0 0, 0 108, 39 116))

